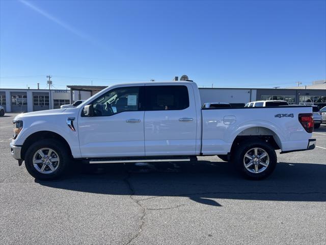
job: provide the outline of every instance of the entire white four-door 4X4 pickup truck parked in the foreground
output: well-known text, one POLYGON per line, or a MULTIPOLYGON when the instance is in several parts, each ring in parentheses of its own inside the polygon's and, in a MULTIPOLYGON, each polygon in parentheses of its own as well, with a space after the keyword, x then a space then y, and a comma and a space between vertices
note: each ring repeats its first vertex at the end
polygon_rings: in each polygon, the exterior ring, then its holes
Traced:
POLYGON ((249 178, 270 175, 281 153, 311 150, 310 106, 201 108, 196 83, 107 87, 75 108, 19 114, 11 154, 37 179, 82 163, 193 161, 218 155, 249 178))

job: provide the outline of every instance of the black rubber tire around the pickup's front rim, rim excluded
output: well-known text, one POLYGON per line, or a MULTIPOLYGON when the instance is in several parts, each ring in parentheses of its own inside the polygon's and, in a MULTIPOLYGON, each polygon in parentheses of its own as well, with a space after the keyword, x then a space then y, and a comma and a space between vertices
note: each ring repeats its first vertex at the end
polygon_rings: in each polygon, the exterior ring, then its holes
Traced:
MULTIPOLYGON (((70 153, 67 147, 58 139, 41 139, 32 144, 25 154, 25 166, 30 175, 38 180, 54 180, 62 177, 68 168, 68 164, 71 161, 70 153), (33 164, 33 157, 36 152, 42 148, 49 148, 58 154, 60 160, 58 168, 50 174, 40 173, 33 164)), ((41 163, 40 163, 41 164, 41 163)), ((50 169, 49 169, 50 170, 50 169)))

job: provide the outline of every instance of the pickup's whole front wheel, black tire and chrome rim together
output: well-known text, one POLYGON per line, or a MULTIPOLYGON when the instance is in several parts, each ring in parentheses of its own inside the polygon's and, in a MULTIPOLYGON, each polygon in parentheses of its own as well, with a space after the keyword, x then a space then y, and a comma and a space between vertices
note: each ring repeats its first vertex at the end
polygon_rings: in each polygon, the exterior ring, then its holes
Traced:
POLYGON ((25 166, 39 180, 60 178, 67 169, 70 154, 61 141, 42 139, 30 146, 25 154, 25 166))

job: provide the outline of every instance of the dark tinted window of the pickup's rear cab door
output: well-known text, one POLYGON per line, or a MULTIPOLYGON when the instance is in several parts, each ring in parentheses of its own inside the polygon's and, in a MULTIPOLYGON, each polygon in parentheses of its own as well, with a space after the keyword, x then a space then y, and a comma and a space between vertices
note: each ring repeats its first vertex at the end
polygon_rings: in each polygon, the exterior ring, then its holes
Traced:
POLYGON ((145 86, 145 110, 183 110, 189 107, 186 86, 145 86))

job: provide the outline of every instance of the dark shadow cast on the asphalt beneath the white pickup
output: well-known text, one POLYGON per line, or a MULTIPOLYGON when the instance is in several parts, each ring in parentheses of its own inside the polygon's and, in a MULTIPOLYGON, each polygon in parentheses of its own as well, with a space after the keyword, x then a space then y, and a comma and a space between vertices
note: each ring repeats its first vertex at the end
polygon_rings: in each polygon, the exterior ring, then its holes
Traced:
POLYGON ((65 179, 37 181, 43 186, 111 195, 187 197, 221 206, 212 199, 326 201, 326 165, 278 163, 267 179, 243 179, 227 162, 110 164, 93 169, 74 164, 65 179), (88 173, 87 173, 88 172, 88 173), (87 173, 87 174, 86 174, 87 173))

